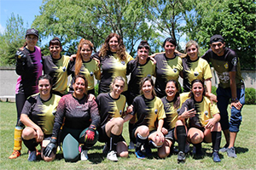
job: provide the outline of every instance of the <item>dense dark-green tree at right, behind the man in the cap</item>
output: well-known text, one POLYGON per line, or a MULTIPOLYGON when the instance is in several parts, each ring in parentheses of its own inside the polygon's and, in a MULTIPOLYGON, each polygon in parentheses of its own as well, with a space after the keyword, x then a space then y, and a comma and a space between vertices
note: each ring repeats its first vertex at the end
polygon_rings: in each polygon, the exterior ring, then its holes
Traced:
POLYGON ((184 31, 189 39, 209 48, 210 37, 220 34, 226 46, 241 60, 242 69, 255 69, 255 9, 254 0, 195 1, 194 12, 184 14, 184 31))

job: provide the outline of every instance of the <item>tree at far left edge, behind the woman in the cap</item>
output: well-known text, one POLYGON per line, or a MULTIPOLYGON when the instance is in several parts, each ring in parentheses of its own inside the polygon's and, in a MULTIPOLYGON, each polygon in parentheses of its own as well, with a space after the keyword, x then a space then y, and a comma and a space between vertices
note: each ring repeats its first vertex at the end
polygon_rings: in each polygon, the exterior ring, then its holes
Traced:
POLYGON ((1 65, 15 65, 16 50, 25 42, 26 29, 19 15, 11 14, 7 20, 6 30, 0 35, 1 65))

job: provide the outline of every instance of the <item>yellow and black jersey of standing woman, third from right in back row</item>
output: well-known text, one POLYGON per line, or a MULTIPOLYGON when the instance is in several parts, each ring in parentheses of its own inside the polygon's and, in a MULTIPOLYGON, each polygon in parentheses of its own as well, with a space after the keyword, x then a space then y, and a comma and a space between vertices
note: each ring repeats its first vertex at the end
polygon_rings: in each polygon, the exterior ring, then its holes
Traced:
POLYGON ((166 58, 166 54, 157 54, 155 64, 154 90, 158 97, 166 96, 166 82, 175 80, 178 82, 179 72, 183 70, 182 59, 175 54, 173 59, 166 58))

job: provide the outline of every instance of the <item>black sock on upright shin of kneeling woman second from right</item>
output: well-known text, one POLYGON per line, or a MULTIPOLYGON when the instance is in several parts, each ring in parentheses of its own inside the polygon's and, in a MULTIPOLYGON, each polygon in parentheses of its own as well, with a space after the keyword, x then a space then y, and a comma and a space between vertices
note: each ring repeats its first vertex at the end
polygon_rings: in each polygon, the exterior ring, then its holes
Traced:
POLYGON ((184 126, 177 126, 176 127, 177 132, 177 143, 178 143, 178 151, 185 152, 185 144, 186 144, 186 129, 184 126))

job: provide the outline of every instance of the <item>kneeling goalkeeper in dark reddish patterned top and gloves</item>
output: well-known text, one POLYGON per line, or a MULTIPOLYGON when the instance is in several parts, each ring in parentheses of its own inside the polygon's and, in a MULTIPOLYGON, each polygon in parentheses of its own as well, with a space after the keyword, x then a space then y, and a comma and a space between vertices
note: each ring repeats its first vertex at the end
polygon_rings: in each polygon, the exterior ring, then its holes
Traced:
POLYGON ((56 150, 57 138, 62 142, 65 161, 79 160, 79 143, 83 144, 80 159, 88 160, 88 150, 96 144, 96 127, 100 116, 95 100, 87 94, 88 83, 84 76, 78 75, 73 83, 73 94, 64 95, 57 107, 55 123, 50 143, 44 150, 44 156, 50 156, 56 150), (61 135, 58 135, 61 129, 61 135))

